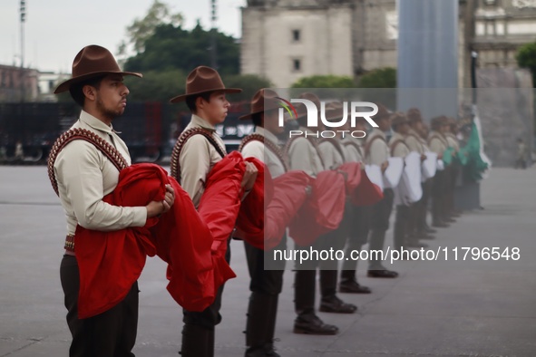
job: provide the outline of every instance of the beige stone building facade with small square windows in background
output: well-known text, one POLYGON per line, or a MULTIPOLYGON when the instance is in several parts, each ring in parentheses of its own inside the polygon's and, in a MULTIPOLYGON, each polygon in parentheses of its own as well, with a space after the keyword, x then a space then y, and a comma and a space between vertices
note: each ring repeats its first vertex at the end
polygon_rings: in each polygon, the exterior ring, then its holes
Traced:
MULTIPOLYGON (((404 0, 398 0, 404 5, 404 0)), ((359 76, 396 67, 396 0, 249 0, 242 9, 241 72, 277 87, 315 74, 359 76)), ((536 39, 536 0, 460 0, 460 87, 478 66, 516 67, 515 53, 536 39)))

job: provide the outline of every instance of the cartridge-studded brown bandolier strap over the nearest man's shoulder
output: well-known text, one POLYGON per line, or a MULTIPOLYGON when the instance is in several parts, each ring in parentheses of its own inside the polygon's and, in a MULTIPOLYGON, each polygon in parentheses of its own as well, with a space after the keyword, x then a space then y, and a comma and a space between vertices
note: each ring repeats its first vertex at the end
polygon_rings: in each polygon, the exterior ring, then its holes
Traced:
POLYGON ((98 150, 102 151, 102 154, 104 154, 106 158, 110 159, 113 166, 119 171, 129 166, 127 160, 123 158, 122 154, 117 149, 93 131, 79 128, 67 130, 54 142, 47 160, 48 178, 50 178, 52 188, 54 188, 54 192, 58 196, 58 183, 54 174, 54 162, 65 145, 73 140, 85 140, 91 142, 98 150))

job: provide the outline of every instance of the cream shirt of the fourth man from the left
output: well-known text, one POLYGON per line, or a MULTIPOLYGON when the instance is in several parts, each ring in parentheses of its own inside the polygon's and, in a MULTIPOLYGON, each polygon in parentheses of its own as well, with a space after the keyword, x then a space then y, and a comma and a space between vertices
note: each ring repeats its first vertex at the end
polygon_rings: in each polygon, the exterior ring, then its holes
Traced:
MULTIPOLYGON (((307 129, 300 128, 300 130, 306 131, 307 129)), ((305 137, 299 137, 290 144, 288 159, 290 169, 301 169, 314 178, 317 177, 318 172, 324 170, 317 149, 305 137)))

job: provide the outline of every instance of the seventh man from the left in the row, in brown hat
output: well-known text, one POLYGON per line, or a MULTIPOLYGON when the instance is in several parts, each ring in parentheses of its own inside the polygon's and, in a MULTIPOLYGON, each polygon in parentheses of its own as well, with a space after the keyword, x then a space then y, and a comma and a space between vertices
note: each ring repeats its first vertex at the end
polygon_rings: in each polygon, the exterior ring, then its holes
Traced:
MULTIPOLYGON (((390 113, 387 109, 378 103, 378 112, 373 120, 378 128, 373 128, 367 135, 365 142, 365 162, 369 165, 377 165, 385 172, 389 164, 390 157, 389 145, 385 138, 385 131, 391 127, 390 113)), ((379 252, 384 249, 385 232, 389 228, 389 217, 393 210, 394 192, 393 188, 384 189, 384 198, 371 207, 370 216, 370 236, 368 238, 369 251, 379 252)), ((381 256, 370 254, 368 259, 368 277, 386 277, 394 278, 398 273, 387 270, 382 265, 381 256)))

